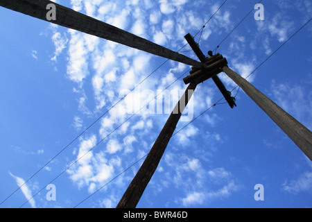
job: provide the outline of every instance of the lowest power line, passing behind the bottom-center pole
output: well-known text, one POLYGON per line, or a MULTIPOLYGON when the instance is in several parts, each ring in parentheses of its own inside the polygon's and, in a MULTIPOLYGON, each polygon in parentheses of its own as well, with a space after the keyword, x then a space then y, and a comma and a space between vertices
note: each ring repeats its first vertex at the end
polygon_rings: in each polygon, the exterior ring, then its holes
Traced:
MULTIPOLYGON (((304 24, 300 29, 298 29, 291 37, 288 38, 288 40, 286 40, 286 42, 288 42, 289 40, 291 40, 292 37, 294 37, 302 28, 304 28, 304 26, 306 26, 307 24, 309 24, 309 22, 311 22, 311 19, 309 19, 308 22, 306 22, 306 24, 304 24)), ((284 46, 284 44, 286 44, 286 42, 284 42, 283 44, 281 44, 281 46, 279 46, 279 48, 277 50, 275 50, 270 56, 268 56, 268 58, 266 58, 266 60, 264 60, 263 62, 261 62, 261 64, 254 69, 254 71, 256 71, 257 69, 259 69, 259 67, 261 67, 271 56, 273 56, 277 51, 279 51, 279 49, 281 49, 282 46, 284 46)), ((247 77, 246 79, 251 76, 252 74, 254 74, 254 71, 252 71, 247 77)), ((239 87, 238 85, 236 85, 236 87, 234 87, 232 91, 234 91, 234 89, 236 89, 237 87, 239 87)), ((240 89, 240 87, 239 87, 240 89)), ((234 97, 237 96, 237 94, 239 93, 239 89, 236 92, 236 95, 234 97)), ((210 110, 211 108, 214 108, 216 105, 221 105, 223 103, 220 103, 220 101, 222 101, 224 99, 224 97, 220 98, 218 101, 216 101, 216 103, 214 103, 214 105, 211 105, 209 108, 207 108, 207 110, 205 110, 204 112, 200 113, 197 117, 195 117, 192 121, 190 121, 189 123, 187 123, 186 125, 184 125, 182 128, 180 128, 180 130, 177 130, 177 132, 175 132, 173 136, 177 135, 177 133, 180 133, 184 128, 186 128, 187 126, 189 126, 191 123, 193 123, 193 121, 195 121, 196 119, 198 119, 199 117, 201 117, 203 114, 205 114, 205 112, 207 112, 208 110, 210 110)), ((148 154, 144 155, 144 157, 146 157, 148 154)), ((116 178, 118 178, 119 176, 121 176, 123 173, 125 173, 126 171, 128 171, 129 169, 131 169, 133 166, 135 166, 135 164, 137 164, 139 161, 141 161, 142 159, 144 159, 144 157, 141 157, 141 159, 137 160, 134 164, 132 164, 130 167, 128 167, 127 169, 125 169, 124 171, 122 171, 121 173, 119 173, 119 175, 117 175, 116 177, 114 177, 112 180, 110 180, 109 182, 107 182, 105 185, 103 185, 103 187, 105 187, 106 185, 110 184, 110 182, 112 182, 113 180, 115 180, 116 178)), ((103 189, 103 187, 100 187, 99 189, 97 189, 94 193, 90 194, 89 196, 87 196, 87 198, 85 198, 84 200, 82 200, 80 203, 78 203, 78 205, 80 205, 81 203, 85 202, 85 200, 89 199, 91 196, 93 196, 94 194, 96 194, 98 191, 100 191, 101 189, 103 189)), ((76 205, 74 208, 78 207, 78 205, 76 205)))

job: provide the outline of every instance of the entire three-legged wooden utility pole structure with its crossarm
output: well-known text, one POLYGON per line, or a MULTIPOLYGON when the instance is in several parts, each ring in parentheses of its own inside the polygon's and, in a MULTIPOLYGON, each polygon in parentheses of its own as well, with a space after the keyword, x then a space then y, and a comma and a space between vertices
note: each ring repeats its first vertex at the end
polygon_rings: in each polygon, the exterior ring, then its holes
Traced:
POLYGON ((180 101, 175 106, 170 117, 166 121, 166 124, 159 136, 157 137, 155 144, 148 153, 146 160, 140 167, 137 175, 130 183, 125 194, 121 198, 117 207, 136 207, 141 195, 144 193, 150 178, 152 178, 153 173, 157 169, 159 161, 164 154, 166 146, 171 139, 177 122, 179 121, 182 112, 189 102, 193 90, 196 89, 196 85, 209 78, 214 80, 216 86, 220 92, 225 97, 225 100, 231 108, 236 106, 234 98, 230 96, 229 92, 223 85, 223 83, 218 78, 217 74, 224 71, 229 78, 232 78, 234 82, 239 85, 250 98, 259 105, 259 107, 268 114, 268 116, 277 123, 277 125, 284 130, 284 132, 290 137, 297 146, 312 160, 312 133, 309 129, 303 126, 295 118, 291 117, 290 114, 281 109, 277 104, 268 99, 264 94, 262 94, 258 89, 248 83, 247 80, 241 78, 232 69, 227 67, 227 60, 223 56, 216 54, 212 55, 210 51, 209 57, 200 51, 198 44, 194 42, 191 35, 186 35, 185 38, 189 45, 198 56, 200 62, 188 58, 180 53, 166 49, 163 46, 159 46, 153 42, 150 42, 142 37, 123 31, 120 28, 106 24, 97 19, 84 15, 80 12, 76 12, 71 8, 66 8, 48 0, 0 0, 0 6, 15 10, 17 12, 42 19, 47 22, 58 24, 67 28, 72 28, 89 35, 94 35, 101 37, 105 40, 110 40, 123 44, 125 46, 130 46, 141 51, 146 51, 147 53, 152 53, 156 56, 162 56, 168 58, 169 60, 175 60, 177 62, 182 62, 187 65, 191 65, 192 70, 190 71, 190 76, 184 78, 184 83, 189 84, 184 95, 180 101), (53 4, 55 6, 55 20, 48 20, 46 15, 49 12, 47 6, 53 4))

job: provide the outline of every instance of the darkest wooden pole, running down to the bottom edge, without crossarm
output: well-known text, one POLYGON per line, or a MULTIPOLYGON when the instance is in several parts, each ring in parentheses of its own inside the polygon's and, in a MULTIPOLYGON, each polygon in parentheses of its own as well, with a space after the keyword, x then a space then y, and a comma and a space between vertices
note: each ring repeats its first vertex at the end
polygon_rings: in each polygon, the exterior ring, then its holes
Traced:
POLYGON ((196 83, 190 83, 180 101, 175 105, 164 128, 159 133, 155 144, 150 149, 150 153, 148 153, 146 160, 144 160, 144 163, 141 165, 137 175, 133 178, 116 208, 135 208, 137 203, 139 203, 148 182, 150 182, 150 178, 152 178, 162 155, 166 150, 166 146, 173 135, 177 122, 179 121, 184 108, 187 106, 189 99, 191 99, 196 85, 196 83))

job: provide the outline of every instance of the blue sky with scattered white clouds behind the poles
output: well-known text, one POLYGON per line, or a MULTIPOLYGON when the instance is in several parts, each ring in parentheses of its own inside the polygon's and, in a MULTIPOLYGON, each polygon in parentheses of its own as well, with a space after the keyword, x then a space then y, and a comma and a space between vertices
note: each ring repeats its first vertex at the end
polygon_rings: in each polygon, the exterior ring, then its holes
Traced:
MULTIPOLYGON (((184 35, 198 33, 223 1, 58 3, 178 51, 184 35)), ((203 29, 202 51, 214 50, 256 3, 227 1, 203 29)), ((217 51, 243 77, 311 18, 309 0, 262 3, 264 20, 256 21, 254 10, 217 51)), ((6 8, 0 18, 2 201, 166 59, 6 8)), ((311 35, 308 24, 248 78, 310 130, 311 35)), ((196 59, 192 51, 183 54, 196 59)), ((189 68, 166 62, 1 207, 20 207, 42 188, 23 207, 74 207, 144 157, 168 118, 166 108, 172 110, 173 98, 187 87, 182 78, 189 68), (134 113, 129 107, 138 110, 162 89, 171 100, 153 101, 110 134, 134 113), (164 109, 150 112, 153 105, 164 109), (60 173, 53 181, 56 200, 49 201, 45 187, 60 173)), ((236 87, 219 76, 227 89, 236 87)), ((212 80, 198 85, 177 130, 220 98, 212 80)), ((311 161, 243 90, 236 104, 212 107, 171 138, 137 207, 312 207, 311 161), (254 200, 257 184, 263 185, 263 201, 254 200)), ((142 162, 78 207, 116 207, 142 162)))

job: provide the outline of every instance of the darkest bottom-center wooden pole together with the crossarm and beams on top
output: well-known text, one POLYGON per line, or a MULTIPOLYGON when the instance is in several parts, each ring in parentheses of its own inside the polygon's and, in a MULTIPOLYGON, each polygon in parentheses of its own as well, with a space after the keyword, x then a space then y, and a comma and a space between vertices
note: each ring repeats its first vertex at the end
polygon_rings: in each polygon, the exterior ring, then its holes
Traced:
POLYGON ((168 142, 173 135, 173 132, 175 130, 175 127, 177 126, 177 122, 181 117, 184 107, 189 102, 191 94, 193 94, 193 90, 195 90, 198 83, 202 83, 208 78, 213 78, 220 91, 223 92, 225 96, 227 96, 227 100, 229 101, 231 108, 236 105, 232 97, 229 96, 229 93, 225 89, 223 83, 221 83, 221 81, 218 79, 218 76, 216 76, 216 74, 219 74, 221 72, 221 67, 227 65, 227 60, 220 55, 210 56, 209 58, 206 58, 202 51, 200 51, 198 45, 194 42, 193 37, 190 36, 191 35, 186 35, 185 38, 202 63, 197 67, 193 67, 192 71, 190 72, 191 76, 184 78, 184 83, 189 83, 187 90, 185 91, 184 95, 177 103, 177 105, 175 105, 175 108, 173 109, 173 112, 171 113, 168 120, 166 121, 164 128, 159 133, 155 144, 150 149, 150 153, 148 153, 146 160, 144 160, 144 163, 141 165, 135 178, 133 178, 128 189, 125 191, 125 194, 123 194, 123 197, 119 201, 117 208, 135 208, 137 206, 137 203, 139 203, 139 200, 144 193, 148 182, 152 178, 162 158, 162 155, 166 150, 166 146, 168 145, 168 142))

